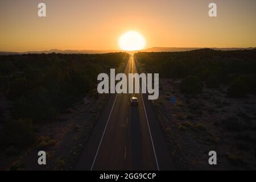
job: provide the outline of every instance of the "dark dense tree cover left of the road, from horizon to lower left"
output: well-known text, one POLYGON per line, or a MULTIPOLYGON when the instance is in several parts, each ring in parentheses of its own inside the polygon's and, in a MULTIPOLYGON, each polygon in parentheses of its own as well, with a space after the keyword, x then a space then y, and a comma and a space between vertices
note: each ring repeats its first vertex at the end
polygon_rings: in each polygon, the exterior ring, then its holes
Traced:
POLYGON ((17 155, 36 141, 39 149, 54 146, 54 139, 38 138, 34 125, 72 113, 72 105, 82 97, 97 99, 92 90, 97 88, 98 74, 109 73, 128 57, 121 52, 0 56, 0 150, 17 155))

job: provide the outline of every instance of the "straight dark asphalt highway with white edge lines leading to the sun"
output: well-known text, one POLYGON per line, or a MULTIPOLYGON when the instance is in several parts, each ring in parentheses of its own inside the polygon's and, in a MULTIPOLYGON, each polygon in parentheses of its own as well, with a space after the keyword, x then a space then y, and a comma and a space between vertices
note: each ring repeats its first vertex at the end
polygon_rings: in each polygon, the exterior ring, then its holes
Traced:
MULTIPOLYGON (((125 74, 137 72, 134 55, 125 74)), ((147 94, 110 94, 75 170, 172 170, 167 144, 147 94), (138 97, 138 106, 130 98, 138 97)))

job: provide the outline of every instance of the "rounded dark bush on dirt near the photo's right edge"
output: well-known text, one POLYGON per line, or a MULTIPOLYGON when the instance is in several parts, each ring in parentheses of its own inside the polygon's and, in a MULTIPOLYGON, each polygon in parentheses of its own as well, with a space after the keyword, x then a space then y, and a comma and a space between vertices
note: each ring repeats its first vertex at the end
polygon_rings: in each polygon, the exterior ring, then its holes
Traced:
POLYGON ((247 92, 247 86, 245 82, 240 78, 234 80, 228 88, 229 97, 245 97, 247 92))

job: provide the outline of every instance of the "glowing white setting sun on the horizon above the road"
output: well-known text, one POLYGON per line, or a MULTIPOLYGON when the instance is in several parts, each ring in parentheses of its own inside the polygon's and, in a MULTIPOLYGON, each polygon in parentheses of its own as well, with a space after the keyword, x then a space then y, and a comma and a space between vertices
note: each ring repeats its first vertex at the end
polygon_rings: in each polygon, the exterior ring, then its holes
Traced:
POLYGON ((137 51, 145 47, 146 41, 136 31, 129 31, 119 38, 119 46, 123 51, 137 51))

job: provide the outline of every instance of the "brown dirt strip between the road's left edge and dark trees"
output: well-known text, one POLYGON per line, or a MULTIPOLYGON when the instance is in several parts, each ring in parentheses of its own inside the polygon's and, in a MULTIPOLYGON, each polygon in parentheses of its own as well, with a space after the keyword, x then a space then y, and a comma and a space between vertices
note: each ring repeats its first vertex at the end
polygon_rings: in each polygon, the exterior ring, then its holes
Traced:
POLYGON ((92 98, 88 105, 76 104, 72 113, 62 114, 58 121, 37 126, 40 137, 36 146, 23 156, 25 169, 72 169, 107 100, 107 95, 100 95, 98 99, 92 98), (42 138, 52 142, 44 145, 42 138), (38 165, 39 150, 47 152, 47 166, 38 165))

